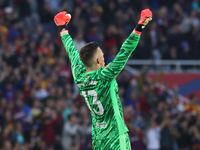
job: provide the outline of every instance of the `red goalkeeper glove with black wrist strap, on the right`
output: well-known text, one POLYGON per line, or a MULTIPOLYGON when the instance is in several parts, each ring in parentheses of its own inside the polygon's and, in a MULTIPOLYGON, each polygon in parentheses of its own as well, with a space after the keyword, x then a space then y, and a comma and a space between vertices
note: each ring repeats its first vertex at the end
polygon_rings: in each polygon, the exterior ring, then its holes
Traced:
POLYGON ((136 25, 134 31, 138 34, 141 34, 142 30, 145 28, 145 26, 149 23, 149 21, 152 20, 152 12, 149 9, 144 9, 141 12, 140 20, 138 24, 136 25))

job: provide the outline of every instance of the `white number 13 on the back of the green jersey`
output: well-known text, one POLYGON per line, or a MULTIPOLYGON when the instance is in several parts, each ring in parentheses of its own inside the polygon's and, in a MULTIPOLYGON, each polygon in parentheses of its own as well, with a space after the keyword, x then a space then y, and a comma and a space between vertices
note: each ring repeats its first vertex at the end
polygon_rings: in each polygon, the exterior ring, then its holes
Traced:
POLYGON ((88 108, 90 109, 90 111, 91 111, 94 115, 97 114, 97 115, 101 116, 101 115, 104 114, 103 105, 102 105, 102 103, 101 103, 99 100, 97 100, 97 92, 96 92, 95 90, 89 90, 89 91, 87 92, 87 94, 86 94, 85 91, 82 91, 81 93, 82 93, 82 95, 83 95, 84 98, 85 98, 85 101, 86 101, 86 103, 87 103, 87 105, 88 105, 88 108), (97 105, 98 108, 99 108, 98 111, 97 111, 96 109, 94 109, 94 108, 92 109, 92 108, 90 107, 90 103, 89 103, 89 101, 88 101, 87 95, 88 95, 88 96, 90 96, 90 95, 93 96, 92 105, 97 105))

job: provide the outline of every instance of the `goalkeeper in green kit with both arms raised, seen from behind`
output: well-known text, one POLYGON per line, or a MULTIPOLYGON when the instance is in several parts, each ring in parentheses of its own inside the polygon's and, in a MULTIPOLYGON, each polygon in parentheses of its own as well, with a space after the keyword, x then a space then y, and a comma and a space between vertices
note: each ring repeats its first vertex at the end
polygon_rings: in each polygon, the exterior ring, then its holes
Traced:
POLYGON ((71 15, 65 11, 54 17, 69 55, 74 82, 92 115, 93 150, 131 150, 115 79, 135 50, 142 30, 152 19, 152 12, 149 9, 141 12, 135 29, 107 67, 98 43, 90 42, 80 53, 77 51, 66 30, 70 19, 71 15))

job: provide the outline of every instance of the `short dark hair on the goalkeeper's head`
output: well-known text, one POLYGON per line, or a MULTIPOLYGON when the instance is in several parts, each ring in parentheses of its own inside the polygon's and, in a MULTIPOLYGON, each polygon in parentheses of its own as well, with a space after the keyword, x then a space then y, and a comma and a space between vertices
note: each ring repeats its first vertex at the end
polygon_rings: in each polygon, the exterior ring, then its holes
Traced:
POLYGON ((92 58, 97 51, 99 44, 97 42, 90 42, 83 46, 80 50, 80 58, 86 67, 92 66, 92 58))

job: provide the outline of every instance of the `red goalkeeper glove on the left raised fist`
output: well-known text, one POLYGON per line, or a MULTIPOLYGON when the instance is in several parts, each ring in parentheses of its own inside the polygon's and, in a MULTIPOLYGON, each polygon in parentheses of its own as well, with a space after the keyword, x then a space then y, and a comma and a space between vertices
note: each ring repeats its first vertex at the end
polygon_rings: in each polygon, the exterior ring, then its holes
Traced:
POLYGON ((59 12, 54 17, 55 24, 59 27, 60 31, 65 30, 66 25, 71 20, 71 15, 66 11, 59 12))

